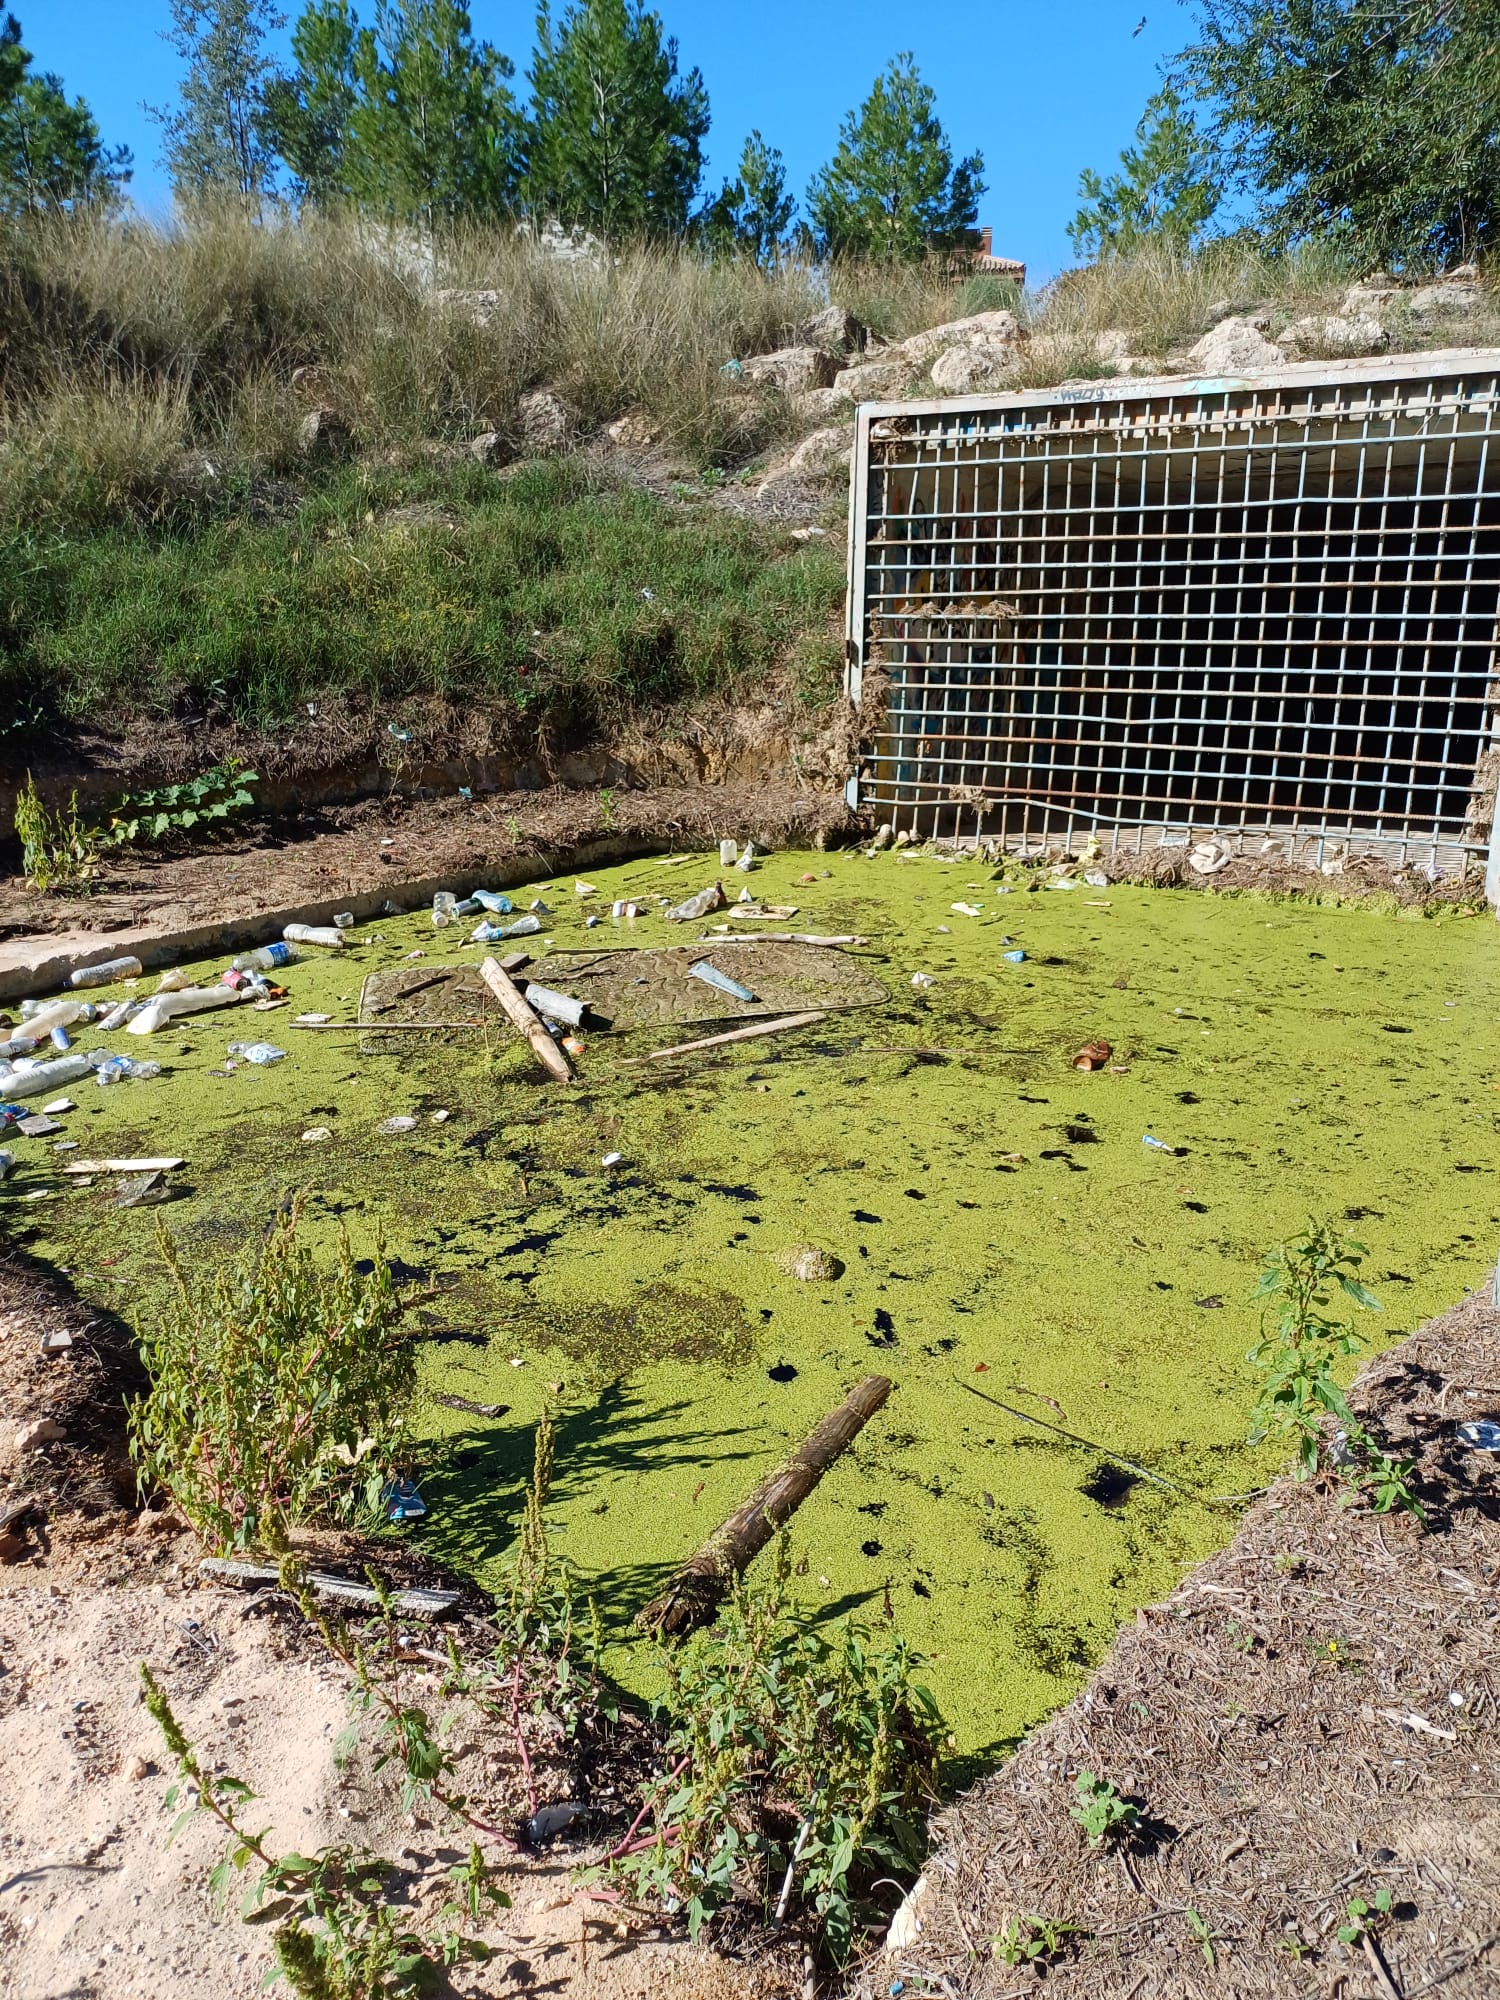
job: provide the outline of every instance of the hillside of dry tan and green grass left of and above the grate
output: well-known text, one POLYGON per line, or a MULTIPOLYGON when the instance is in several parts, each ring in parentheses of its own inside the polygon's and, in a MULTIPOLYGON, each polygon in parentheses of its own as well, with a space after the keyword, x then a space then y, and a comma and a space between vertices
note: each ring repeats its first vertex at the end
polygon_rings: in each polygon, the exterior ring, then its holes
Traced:
MULTIPOLYGON (((1324 252, 1218 246, 1022 300, 938 268, 570 260, 514 234, 432 248, 356 222, 12 230, 0 762, 80 718, 124 732, 216 710, 268 730, 334 694, 458 698, 578 732, 772 674, 816 704, 838 672, 838 536, 798 548, 722 502, 726 480, 754 482, 840 414, 736 386, 726 362, 788 344, 830 298, 878 340, 1012 304, 1030 334, 1016 386, 1042 386, 1112 374, 1122 340, 1188 366, 1226 312, 1274 336, 1334 310, 1348 280, 1324 252), (568 400, 580 438, 630 416, 650 490, 630 452, 472 462, 480 432, 500 456, 526 450, 518 404, 536 388, 568 400), (338 414, 330 450, 308 450, 314 402, 338 414)), ((838 502, 834 478, 830 524, 838 502)))

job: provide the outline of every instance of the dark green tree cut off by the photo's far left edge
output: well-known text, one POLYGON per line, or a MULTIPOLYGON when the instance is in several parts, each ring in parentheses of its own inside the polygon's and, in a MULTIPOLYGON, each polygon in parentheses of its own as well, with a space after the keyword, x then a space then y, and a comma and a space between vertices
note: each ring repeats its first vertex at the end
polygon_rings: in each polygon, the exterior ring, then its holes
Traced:
POLYGON ((72 104, 60 76, 32 76, 20 22, 0 18, 0 214, 76 208, 118 200, 130 180, 130 148, 104 146, 82 98, 72 104))

